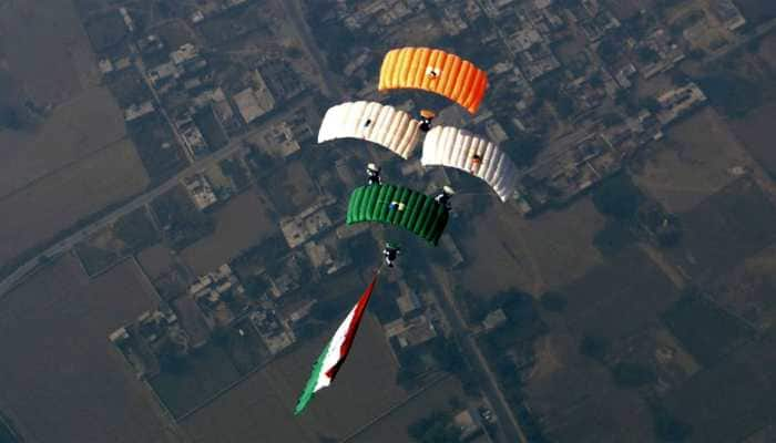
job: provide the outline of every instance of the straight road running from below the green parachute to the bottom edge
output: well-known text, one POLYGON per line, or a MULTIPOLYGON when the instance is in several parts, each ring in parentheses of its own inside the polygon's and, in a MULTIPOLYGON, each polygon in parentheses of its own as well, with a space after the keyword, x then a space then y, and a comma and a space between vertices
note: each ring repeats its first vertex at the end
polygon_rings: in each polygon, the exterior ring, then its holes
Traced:
POLYGON ((452 299, 452 293, 450 292, 450 285, 447 282, 447 272, 437 267, 431 267, 436 275, 437 280, 440 284, 442 290, 442 297, 437 297, 439 307, 442 309, 445 317, 447 318, 450 327, 456 331, 458 342, 461 347, 461 351, 466 357, 467 361, 472 365, 472 370, 480 374, 480 385, 489 403, 493 408, 493 412, 498 418, 499 422, 499 439, 504 443, 528 443, 525 435, 523 434, 520 423, 512 413, 512 409, 507 403, 499 389, 496 375, 490 371, 488 361, 486 360, 480 348, 474 341, 474 336, 469 331, 469 327, 463 320, 463 316, 456 307, 456 301, 452 299))

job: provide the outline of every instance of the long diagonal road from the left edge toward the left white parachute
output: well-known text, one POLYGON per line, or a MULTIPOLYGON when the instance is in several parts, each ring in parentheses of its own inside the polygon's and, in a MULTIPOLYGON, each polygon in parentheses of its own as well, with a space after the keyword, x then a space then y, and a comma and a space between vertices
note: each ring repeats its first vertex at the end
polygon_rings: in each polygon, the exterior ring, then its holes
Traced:
POLYGON ((243 148, 243 141, 252 135, 254 135, 257 132, 261 132, 266 128, 266 126, 276 123, 277 121, 285 119, 292 112, 296 111, 299 104, 298 102, 304 102, 307 99, 297 99, 290 101, 285 107, 287 109, 284 112, 278 113, 277 115, 268 119, 265 123, 263 123, 261 126, 256 127, 255 130, 252 130, 236 138, 233 138, 232 142, 224 146, 223 148, 218 150, 217 152, 200 158, 198 161, 192 163, 188 167, 185 169, 177 173, 175 176, 172 178, 167 179, 166 182, 162 183, 160 186, 155 187, 152 190, 149 190, 145 194, 142 194, 127 204, 123 205, 122 207, 113 210, 112 213, 108 214, 106 216, 100 218, 99 220, 89 224, 88 226, 84 226, 83 228, 79 229, 78 231, 73 233, 72 235, 68 236, 67 238, 58 241, 57 244, 50 246, 48 249, 40 253, 35 257, 31 258, 29 261, 20 266, 13 274, 8 276, 6 279, 0 282, 0 296, 4 295, 9 290, 11 290, 13 287, 16 287, 19 282, 21 282, 25 276, 28 276, 30 272, 34 271, 40 265, 41 260, 44 260, 44 257, 48 258, 53 258, 57 257, 61 254, 67 253, 71 248, 73 248, 78 243, 85 240, 90 236, 99 233, 101 229, 110 226, 113 224, 116 219, 120 217, 132 213, 133 210, 143 207, 144 205, 151 203, 154 198, 161 196, 162 194, 166 193, 167 190, 174 188, 177 186, 180 181, 186 176, 190 176, 196 172, 200 172, 202 169, 205 169, 213 165, 214 163, 217 163, 235 152, 239 151, 243 148))

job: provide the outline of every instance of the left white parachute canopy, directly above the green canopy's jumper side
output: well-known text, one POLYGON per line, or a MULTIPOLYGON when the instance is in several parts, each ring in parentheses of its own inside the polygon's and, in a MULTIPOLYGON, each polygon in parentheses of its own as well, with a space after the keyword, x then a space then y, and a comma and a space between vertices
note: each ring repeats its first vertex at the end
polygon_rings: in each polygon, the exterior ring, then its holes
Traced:
POLYGON ((376 102, 346 102, 329 107, 318 131, 318 143, 360 138, 408 158, 418 144, 420 122, 394 106, 376 102))

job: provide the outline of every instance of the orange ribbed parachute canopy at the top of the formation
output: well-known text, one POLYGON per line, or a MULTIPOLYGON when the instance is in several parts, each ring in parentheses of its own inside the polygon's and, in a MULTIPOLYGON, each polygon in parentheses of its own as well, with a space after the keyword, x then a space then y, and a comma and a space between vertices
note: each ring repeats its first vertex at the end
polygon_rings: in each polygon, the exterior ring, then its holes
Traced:
POLYGON ((401 48, 388 51, 380 68, 380 92, 419 89, 443 95, 476 113, 488 75, 471 62, 442 50, 401 48))

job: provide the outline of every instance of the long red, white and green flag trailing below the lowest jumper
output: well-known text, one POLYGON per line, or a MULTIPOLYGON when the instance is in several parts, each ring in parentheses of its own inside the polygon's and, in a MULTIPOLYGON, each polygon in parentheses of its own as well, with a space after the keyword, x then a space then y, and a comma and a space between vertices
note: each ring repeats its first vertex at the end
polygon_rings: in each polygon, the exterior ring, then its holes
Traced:
POLYGON ((361 298, 358 299, 356 306, 350 309, 345 321, 337 328, 334 337, 331 337, 331 340, 329 340, 326 348, 324 348, 324 352, 318 357, 318 360, 316 360, 307 385, 305 385, 305 390, 302 392, 299 401, 296 403, 296 411, 294 412, 296 415, 305 410, 307 403, 309 403, 316 392, 331 384, 337 372, 339 372, 356 339, 356 332, 358 332, 358 327, 361 323, 364 311, 367 308, 369 297, 371 297, 376 282, 377 272, 375 272, 371 282, 364 293, 361 293, 361 298))

